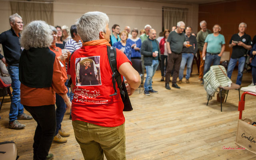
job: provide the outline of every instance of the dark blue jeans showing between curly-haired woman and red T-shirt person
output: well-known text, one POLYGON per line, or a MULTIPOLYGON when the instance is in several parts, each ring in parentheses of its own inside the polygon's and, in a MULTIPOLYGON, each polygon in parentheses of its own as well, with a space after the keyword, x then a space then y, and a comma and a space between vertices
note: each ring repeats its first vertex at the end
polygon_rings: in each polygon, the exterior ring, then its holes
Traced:
POLYGON ((58 95, 57 93, 56 95, 56 132, 55 132, 55 136, 58 134, 60 128, 61 128, 61 122, 63 120, 64 114, 66 112, 66 104, 64 102, 64 99, 58 95))

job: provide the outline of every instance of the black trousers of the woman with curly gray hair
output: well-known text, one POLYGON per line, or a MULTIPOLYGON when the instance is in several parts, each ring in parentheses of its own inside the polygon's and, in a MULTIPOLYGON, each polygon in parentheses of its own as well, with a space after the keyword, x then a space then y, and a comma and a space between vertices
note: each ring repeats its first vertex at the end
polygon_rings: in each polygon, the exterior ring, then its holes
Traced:
POLYGON ((37 122, 34 135, 34 160, 46 160, 56 130, 55 105, 25 106, 37 122))

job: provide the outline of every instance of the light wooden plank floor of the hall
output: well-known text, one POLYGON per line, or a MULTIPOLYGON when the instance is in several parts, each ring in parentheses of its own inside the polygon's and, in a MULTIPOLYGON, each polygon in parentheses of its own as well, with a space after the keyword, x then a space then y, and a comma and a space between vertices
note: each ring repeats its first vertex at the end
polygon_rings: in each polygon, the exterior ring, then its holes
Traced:
MULTIPOLYGON (((233 82, 236 82, 236 76, 237 69, 232 76, 233 82)), ((256 160, 256 154, 247 150, 222 149, 237 146, 237 90, 229 92, 223 112, 220 112, 216 96, 206 106, 206 91, 198 81, 196 66, 190 84, 180 84, 180 89, 171 87, 166 90, 160 78, 161 73, 157 71, 153 88, 159 94, 145 96, 136 90, 130 97, 134 110, 124 112, 127 160, 256 160)), ((242 87, 251 82, 251 73, 244 74, 242 87)), ((256 121, 256 97, 248 95, 245 99, 243 118, 256 121)), ((9 108, 10 98, 6 98, 0 111, 0 141, 16 142, 19 160, 31 160, 36 122, 20 120, 26 128, 8 129, 9 108)), ((53 143, 50 153, 54 154, 55 160, 83 160, 69 112, 65 114, 62 126, 71 136, 65 144, 53 143)))

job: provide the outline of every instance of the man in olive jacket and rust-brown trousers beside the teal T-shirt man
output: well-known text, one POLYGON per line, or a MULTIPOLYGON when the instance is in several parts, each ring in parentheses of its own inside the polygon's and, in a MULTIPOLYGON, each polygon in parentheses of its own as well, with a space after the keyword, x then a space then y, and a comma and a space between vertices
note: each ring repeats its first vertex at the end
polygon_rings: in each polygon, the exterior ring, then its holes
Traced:
POLYGON ((208 34, 211 34, 212 32, 207 29, 207 23, 205 20, 202 20, 200 22, 200 27, 202 28, 196 36, 197 44, 198 44, 198 50, 200 52, 200 68, 199 68, 199 79, 202 80, 204 76, 204 59, 202 58, 203 54, 203 47, 204 47, 204 40, 208 36, 208 34))

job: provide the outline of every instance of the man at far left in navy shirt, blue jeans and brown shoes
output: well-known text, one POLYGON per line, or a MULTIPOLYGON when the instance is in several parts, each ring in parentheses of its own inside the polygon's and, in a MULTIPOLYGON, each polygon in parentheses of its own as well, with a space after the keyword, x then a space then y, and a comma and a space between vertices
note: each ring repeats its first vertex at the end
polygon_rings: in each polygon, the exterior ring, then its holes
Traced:
POLYGON ((0 59, 8 65, 8 72, 12 79, 12 102, 9 113, 9 128, 22 129, 26 125, 18 120, 30 120, 32 116, 24 113, 23 105, 20 103, 20 80, 19 60, 22 49, 20 47, 20 31, 23 30, 23 22, 17 13, 9 17, 11 29, 0 34, 0 44, 3 46, 4 57, 0 59))

